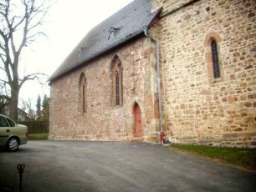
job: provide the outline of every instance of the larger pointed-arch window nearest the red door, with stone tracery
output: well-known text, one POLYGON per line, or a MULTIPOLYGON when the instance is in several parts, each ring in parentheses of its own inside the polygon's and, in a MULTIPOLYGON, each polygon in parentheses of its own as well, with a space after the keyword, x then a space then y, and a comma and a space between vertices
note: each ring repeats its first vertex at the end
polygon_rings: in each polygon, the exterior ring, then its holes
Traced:
POLYGON ((115 55, 110 63, 110 104, 113 107, 123 105, 123 68, 120 58, 115 55))

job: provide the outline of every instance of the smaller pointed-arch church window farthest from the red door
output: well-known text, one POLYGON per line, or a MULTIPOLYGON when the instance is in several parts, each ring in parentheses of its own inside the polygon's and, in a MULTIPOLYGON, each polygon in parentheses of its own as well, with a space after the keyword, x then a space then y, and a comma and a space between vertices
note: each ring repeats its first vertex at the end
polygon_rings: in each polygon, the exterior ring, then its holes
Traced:
POLYGON ((79 76, 79 112, 85 114, 87 112, 87 81, 84 73, 79 76))

